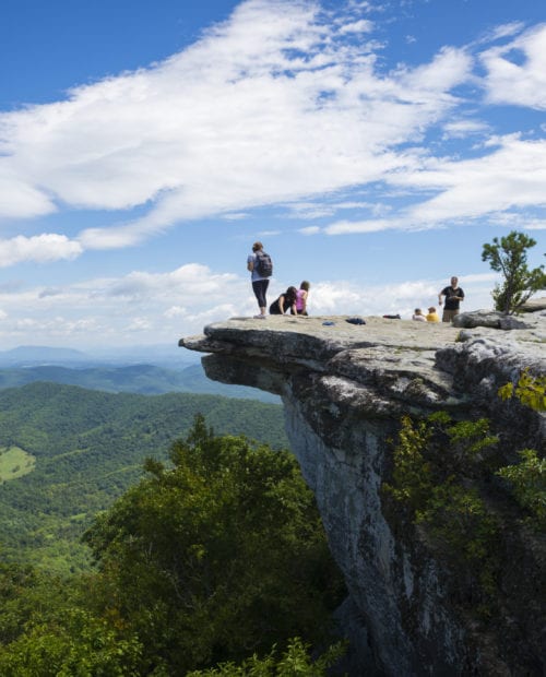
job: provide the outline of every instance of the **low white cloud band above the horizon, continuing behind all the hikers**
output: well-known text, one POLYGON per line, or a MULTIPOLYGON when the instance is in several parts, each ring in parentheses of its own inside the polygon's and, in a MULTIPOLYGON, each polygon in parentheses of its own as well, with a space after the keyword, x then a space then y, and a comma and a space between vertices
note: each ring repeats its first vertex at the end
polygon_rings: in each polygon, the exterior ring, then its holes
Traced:
MULTIPOLYGON (((465 308, 490 308, 494 274, 460 276, 465 308)), ((410 318, 416 307, 435 305, 447 280, 413 280, 400 284, 358 285, 344 280, 312 284, 311 314, 382 316, 410 318)), ((269 299, 286 288, 272 281, 269 299)), ((190 264, 153 275, 135 271, 112 278, 88 280, 58 286, 0 289, 0 341, 16 345, 29 333, 45 345, 93 347, 134 343, 177 343, 201 333, 211 322, 250 317, 256 299, 247 277, 226 276, 190 264)), ((27 341, 27 340, 26 340, 27 341)))

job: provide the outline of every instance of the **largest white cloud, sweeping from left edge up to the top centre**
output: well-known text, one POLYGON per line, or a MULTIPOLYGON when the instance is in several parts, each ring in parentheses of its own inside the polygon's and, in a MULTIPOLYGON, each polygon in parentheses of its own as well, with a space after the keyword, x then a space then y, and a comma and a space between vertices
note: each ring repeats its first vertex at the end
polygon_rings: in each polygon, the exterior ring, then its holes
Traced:
MULTIPOLYGON (((450 90, 471 60, 444 49, 430 63, 379 75, 372 46, 340 37, 355 29, 372 24, 348 15, 334 25, 306 2, 249 0, 162 63, 3 114, 4 175, 33 198, 20 215, 62 203, 120 212, 79 236, 86 249, 120 248, 183 219, 405 168, 407 155, 394 147, 455 106, 450 90), (135 206, 147 213, 124 218, 135 206)), ((16 204, 4 204, 4 215, 17 215, 16 204)))

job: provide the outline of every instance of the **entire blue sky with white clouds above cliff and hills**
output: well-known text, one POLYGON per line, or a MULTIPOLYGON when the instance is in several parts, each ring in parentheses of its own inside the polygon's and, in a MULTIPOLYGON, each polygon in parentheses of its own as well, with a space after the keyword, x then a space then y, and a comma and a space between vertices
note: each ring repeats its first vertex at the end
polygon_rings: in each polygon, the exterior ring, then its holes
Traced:
POLYGON ((408 318, 546 250, 536 0, 3 0, 0 349, 174 343, 311 282, 408 318))

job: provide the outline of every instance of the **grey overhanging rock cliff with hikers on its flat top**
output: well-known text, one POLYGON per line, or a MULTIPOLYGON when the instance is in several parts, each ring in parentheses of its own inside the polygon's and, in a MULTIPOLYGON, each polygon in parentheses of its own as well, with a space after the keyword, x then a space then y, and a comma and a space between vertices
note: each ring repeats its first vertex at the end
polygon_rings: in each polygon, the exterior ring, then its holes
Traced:
POLYGON ((523 448, 544 454, 546 415, 502 402, 497 390, 524 368, 546 373, 546 312, 525 314, 511 331, 495 329, 487 314, 488 326, 473 313, 460 319, 463 329, 383 318, 361 325, 346 317, 233 318, 180 340, 207 354, 210 378, 282 396, 292 450, 349 591, 343 622, 353 638, 352 675, 523 676, 546 668, 545 544, 522 526, 506 489, 489 487, 507 536, 502 611, 485 621, 461 604, 456 569, 392 513, 381 489, 403 415, 487 416, 507 465, 523 448))

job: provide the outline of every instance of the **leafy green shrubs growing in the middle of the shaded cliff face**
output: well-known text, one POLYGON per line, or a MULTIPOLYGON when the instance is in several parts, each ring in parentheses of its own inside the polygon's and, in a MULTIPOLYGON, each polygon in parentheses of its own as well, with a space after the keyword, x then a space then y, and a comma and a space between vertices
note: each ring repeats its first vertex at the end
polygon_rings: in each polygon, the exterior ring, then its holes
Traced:
POLYGON ((455 561, 482 593, 492 594, 498 523, 470 485, 473 465, 497 444, 486 419, 451 421, 446 413, 402 419, 388 496, 411 510, 440 553, 455 561))

